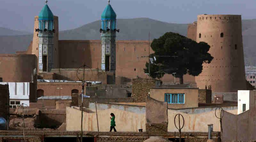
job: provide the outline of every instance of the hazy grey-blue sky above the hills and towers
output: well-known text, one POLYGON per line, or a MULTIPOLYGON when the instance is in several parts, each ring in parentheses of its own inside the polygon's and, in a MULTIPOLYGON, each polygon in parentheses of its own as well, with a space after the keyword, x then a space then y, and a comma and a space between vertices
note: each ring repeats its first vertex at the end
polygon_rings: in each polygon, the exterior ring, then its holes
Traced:
MULTIPOLYGON (((60 30, 73 29, 100 19, 107 0, 48 0, 59 16, 60 30)), ((0 27, 33 31, 34 16, 44 0, 0 0, 0 27)), ((170 23, 192 23, 198 14, 239 14, 256 19, 255 0, 111 0, 118 19, 147 17, 170 23)))

